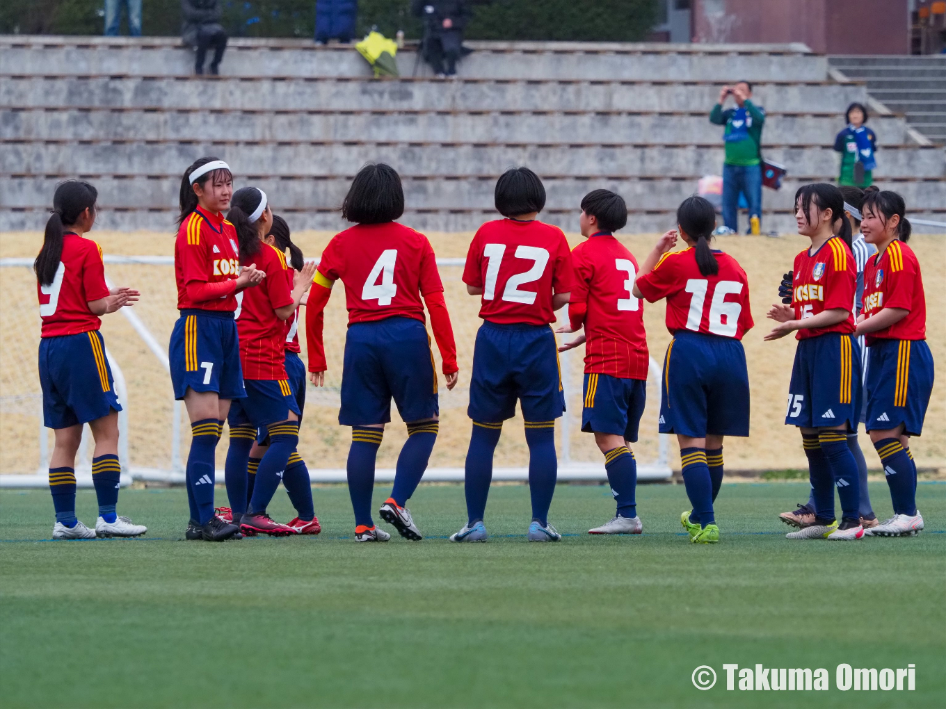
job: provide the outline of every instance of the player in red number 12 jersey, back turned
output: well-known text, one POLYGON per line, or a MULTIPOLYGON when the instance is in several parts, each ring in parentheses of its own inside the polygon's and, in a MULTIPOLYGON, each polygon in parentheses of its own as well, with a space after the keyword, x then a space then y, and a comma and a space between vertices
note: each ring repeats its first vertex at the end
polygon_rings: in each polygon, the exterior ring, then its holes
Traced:
POLYGON ((531 542, 557 542, 549 524, 558 461, 555 419, 565 410, 555 334, 550 323, 569 302, 574 285, 571 251, 558 227, 536 218, 545 207, 545 187, 527 167, 507 170, 496 183, 496 209, 504 219, 480 227, 466 253, 464 283, 482 296, 483 322, 476 336, 470 403, 473 433, 466 454, 467 521, 452 542, 485 542, 482 517, 493 477, 493 453, 502 422, 525 419, 529 445, 531 542))

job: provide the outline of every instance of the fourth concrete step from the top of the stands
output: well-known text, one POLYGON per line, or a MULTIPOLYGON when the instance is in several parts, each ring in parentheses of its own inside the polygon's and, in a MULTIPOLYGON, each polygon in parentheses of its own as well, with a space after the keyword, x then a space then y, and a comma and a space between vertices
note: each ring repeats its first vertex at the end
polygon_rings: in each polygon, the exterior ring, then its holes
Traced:
MULTIPOLYGON (((179 141, 4 141, 0 173, 109 173, 149 175, 183 170, 201 155, 231 164, 237 179, 246 175, 351 175, 362 164, 384 162, 405 175, 495 177, 511 164, 539 175, 705 175, 723 164, 719 142, 698 144, 523 144, 356 142, 179 142, 179 141)), ((838 154, 831 146, 768 146, 769 160, 801 175, 832 175, 838 154)), ((883 175, 942 178, 943 152, 937 147, 886 146, 883 175)), ((879 173, 880 174, 880 173, 879 173)))

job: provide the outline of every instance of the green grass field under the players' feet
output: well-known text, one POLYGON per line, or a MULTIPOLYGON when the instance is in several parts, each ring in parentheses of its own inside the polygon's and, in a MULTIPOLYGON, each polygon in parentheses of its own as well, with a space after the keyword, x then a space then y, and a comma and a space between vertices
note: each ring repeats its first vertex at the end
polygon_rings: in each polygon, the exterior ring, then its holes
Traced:
MULTIPOLYGON (((493 488, 485 545, 450 545, 460 486, 422 486, 429 535, 356 545, 347 490, 314 491, 315 538, 184 542, 183 490, 125 491, 141 540, 38 542, 44 491, 0 493, 5 707, 946 705, 946 485, 920 483, 926 531, 790 542, 804 483, 727 484, 721 544, 691 545, 682 486, 641 486, 639 537, 589 537, 599 486, 559 486, 568 536, 530 545, 528 490, 493 488), (826 667, 828 692, 726 691, 724 663, 826 667), (842 692, 835 667, 916 664, 916 691, 842 692), (695 689, 696 666, 719 681, 695 689)), ((387 489, 378 487, 376 502, 387 489)), ((879 515, 883 482, 871 485, 879 515)), ((225 493, 218 490, 218 499, 225 493)), ((96 517, 79 492, 79 519, 96 517)), ((289 518, 277 493, 271 512, 289 518)))

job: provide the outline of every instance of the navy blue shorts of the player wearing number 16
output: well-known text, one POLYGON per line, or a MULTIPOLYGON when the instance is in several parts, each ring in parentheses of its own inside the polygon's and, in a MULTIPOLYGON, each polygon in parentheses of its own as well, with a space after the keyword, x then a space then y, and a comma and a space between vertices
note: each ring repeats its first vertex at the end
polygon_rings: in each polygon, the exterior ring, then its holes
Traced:
POLYGON ((743 343, 685 330, 663 362, 660 433, 702 439, 749 435, 749 374, 743 343))

